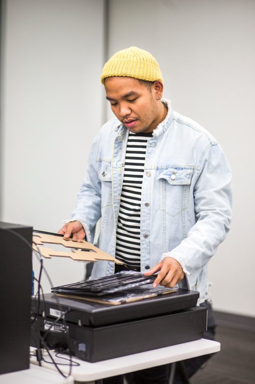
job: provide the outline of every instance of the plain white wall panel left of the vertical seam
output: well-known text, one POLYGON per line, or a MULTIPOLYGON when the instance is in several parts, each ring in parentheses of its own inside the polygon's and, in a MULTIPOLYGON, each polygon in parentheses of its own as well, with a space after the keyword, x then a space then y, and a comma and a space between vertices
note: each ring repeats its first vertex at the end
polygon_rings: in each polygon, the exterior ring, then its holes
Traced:
MULTIPOLYGON (((1 220, 56 232, 102 122, 104 2, 5 3, 1 220)), ((81 263, 44 260, 54 285, 83 278, 81 263)))

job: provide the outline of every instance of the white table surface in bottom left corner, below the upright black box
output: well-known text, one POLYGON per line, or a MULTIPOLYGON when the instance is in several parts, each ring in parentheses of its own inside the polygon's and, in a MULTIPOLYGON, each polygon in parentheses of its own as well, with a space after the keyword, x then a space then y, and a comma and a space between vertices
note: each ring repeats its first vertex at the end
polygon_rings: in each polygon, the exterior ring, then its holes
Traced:
POLYGON ((31 364, 30 369, 0 375, 0 382, 1 384, 73 384, 73 377, 64 378, 58 372, 31 364))

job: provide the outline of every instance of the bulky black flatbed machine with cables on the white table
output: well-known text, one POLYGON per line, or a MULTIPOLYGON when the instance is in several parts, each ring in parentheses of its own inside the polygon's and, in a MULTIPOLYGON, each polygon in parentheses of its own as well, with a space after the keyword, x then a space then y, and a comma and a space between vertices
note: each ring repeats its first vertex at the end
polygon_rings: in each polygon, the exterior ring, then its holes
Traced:
POLYGON ((168 295, 120 305, 57 297, 32 298, 36 318, 32 346, 68 350, 87 362, 198 340, 207 329, 199 293, 178 289, 168 295))

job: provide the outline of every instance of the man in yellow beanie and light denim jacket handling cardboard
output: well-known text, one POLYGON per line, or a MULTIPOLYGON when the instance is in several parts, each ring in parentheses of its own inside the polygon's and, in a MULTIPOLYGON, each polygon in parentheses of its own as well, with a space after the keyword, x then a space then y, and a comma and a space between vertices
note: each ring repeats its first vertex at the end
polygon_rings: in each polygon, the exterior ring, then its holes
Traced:
MULTIPOLYGON (((154 286, 178 283, 206 302, 207 263, 231 221, 231 170, 222 149, 162 99, 162 74, 150 53, 117 52, 101 82, 116 119, 95 138, 77 207, 59 233, 93 241, 101 217, 99 247, 123 269, 158 272, 154 286)), ((92 278, 120 269, 100 261, 92 278)), ((164 367, 145 370, 136 382, 168 382, 164 367)))

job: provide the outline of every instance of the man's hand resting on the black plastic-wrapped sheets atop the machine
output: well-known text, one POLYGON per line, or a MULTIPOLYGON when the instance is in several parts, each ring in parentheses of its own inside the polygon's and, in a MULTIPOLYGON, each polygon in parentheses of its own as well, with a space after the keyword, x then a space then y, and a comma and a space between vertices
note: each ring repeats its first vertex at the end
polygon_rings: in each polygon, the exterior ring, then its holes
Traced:
POLYGON ((156 288, 159 284, 167 288, 173 288, 184 278, 183 268, 181 264, 172 257, 165 257, 162 261, 145 272, 145 276, 151 276, 158 272, 157 278, 154 280, 153 287, 156 288))

